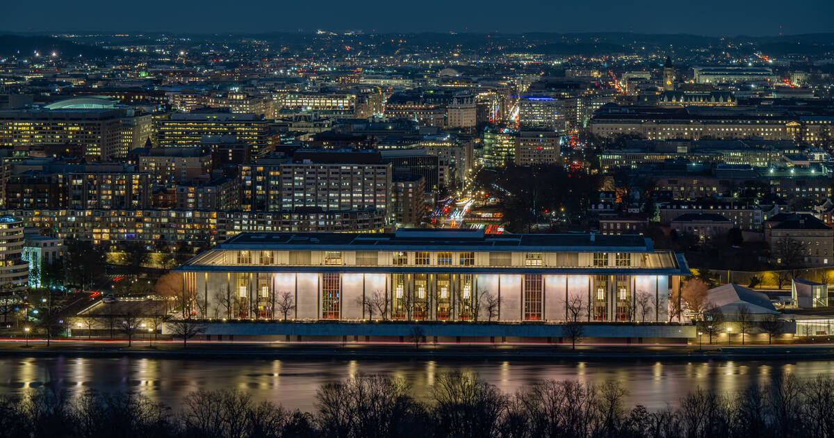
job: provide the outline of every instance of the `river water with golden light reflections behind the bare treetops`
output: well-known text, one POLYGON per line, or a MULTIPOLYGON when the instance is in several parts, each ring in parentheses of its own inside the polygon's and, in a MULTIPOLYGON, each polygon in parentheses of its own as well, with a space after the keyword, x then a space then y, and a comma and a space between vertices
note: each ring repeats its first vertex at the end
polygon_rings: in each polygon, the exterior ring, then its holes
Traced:
POLYGON ((834 376, 834 361, 716 362, 519 362, 502 360, 200 360, 5 357, 0 358, 0 395, 19 395, 43 386, 77 395, 85 390, 133 391, 178 406, 193 390, 239 389, 255 400, 273 400, 288 408, 314 410, 316 389, 350 375, 384 373, 403 378, 419 398, 429 396, 440 373, 460 369, 508 393, 536 380, 617 380, 629 391, 627 403, 650 410, 675 406, 681 396, 702 388, 736 392, 768 384, 782 375, 800 380, 834 376))

